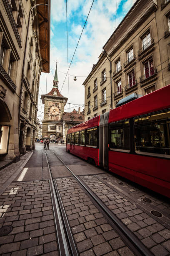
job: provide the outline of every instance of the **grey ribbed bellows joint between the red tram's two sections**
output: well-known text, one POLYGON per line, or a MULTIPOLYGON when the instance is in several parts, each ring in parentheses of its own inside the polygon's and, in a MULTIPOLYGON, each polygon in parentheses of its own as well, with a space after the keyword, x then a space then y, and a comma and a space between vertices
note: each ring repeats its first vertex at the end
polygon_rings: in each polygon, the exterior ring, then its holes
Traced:
POLYGON ((108 119, 109 112, 100 115, 99 164, 103 169, 108 169, 108 119))

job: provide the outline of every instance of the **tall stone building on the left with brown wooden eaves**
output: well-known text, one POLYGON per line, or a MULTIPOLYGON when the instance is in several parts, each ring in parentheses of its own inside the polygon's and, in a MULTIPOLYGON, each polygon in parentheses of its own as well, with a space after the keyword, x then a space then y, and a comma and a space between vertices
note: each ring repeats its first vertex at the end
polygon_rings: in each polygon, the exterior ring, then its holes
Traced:
POLYGON ((39 80, 49 72, 49 54, 50 0, 1 0, 0 160, 17 161, 34 148, 39 80))

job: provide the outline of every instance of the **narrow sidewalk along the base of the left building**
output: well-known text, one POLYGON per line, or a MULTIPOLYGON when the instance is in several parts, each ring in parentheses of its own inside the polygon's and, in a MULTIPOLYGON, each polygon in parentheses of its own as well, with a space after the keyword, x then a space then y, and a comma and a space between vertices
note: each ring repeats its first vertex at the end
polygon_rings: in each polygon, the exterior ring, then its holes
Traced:
POLYGON ((9 166, 0 170, 0 187, 16 172, 16 170, 24 163, 30 154, 31 152, 29 151, 27 154, 21 156, 20 161, 10 164, 9 166))

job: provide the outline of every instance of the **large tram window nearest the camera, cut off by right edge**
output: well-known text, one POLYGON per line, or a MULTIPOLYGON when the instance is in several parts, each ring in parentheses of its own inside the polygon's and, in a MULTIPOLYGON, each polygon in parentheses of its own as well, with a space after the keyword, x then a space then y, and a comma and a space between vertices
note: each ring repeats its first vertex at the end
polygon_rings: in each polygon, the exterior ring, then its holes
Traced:
POLYGON ((170 157, 170 110, 134 118, 134 129, 138 154, 170 157))

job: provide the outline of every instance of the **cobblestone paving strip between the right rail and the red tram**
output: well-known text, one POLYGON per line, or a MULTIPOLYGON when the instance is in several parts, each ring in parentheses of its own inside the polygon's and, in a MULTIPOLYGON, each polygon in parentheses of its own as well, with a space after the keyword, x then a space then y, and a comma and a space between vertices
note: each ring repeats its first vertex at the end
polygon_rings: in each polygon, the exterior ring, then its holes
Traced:
POLYGON ((154 255, 170 255, 170 220, 166 216, 156 218, 150 212, 147 214, 132 199, 95 176, 81 176, 81 179, 154 255))

